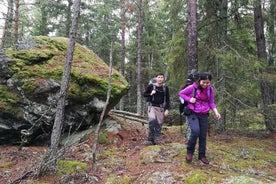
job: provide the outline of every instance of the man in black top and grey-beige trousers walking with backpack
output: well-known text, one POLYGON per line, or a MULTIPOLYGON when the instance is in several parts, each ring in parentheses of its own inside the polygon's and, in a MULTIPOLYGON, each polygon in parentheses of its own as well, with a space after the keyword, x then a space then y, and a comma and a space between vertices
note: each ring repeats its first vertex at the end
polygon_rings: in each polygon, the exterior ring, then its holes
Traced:
POLYGON ((164 84, 164 74, 155 76, 156 83, 149 84, 144 92, 148 104, 149 135, 148 141, 157 144, 161 135, 164 117, 169 115, 170 94, 169 88, 164 84))

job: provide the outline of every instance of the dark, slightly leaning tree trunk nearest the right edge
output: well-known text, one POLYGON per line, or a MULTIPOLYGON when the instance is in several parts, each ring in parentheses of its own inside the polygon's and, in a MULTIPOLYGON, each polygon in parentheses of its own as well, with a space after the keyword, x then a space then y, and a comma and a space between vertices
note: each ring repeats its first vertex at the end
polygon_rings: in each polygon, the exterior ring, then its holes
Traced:
MULTIPOLYGON (((265 66, 267 66, 267 53, 264 36, 264 20, 262 16, 262 6, 260 0, 254 6, 254 23, 258 59, 265 66)), ((265 77, 265 72, 262 69, 260 70, 260 91, 262 97, 262 108, 266 129, 269 132, 275 132, 276 129, 273 128, 273 121, 270 121, 271 117, 269 116, 270 113, 268 105, 270 105, 271 99, 269 81, 265 77)))

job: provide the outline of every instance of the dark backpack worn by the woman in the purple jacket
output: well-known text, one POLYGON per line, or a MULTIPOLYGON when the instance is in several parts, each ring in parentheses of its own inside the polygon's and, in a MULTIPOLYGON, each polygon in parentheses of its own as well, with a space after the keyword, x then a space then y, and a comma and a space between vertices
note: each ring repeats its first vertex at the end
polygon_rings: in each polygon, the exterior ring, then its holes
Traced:
MULTIPOLYGON (((186 84, 182 89, 185 89, 189 85, 192 85, 196 80, 198 79, 198 73, 190 74, 187 78, 186 84)), ((182 90, 181 89, 181 90, 182 90)), ((193 97, 196 95, 196 89, 193 89, 193 97)), ((188 115, 189 112, 187 112, 189 102, 185 101, 183 98, 179 97, 179 113, 180 115, 188 115)))

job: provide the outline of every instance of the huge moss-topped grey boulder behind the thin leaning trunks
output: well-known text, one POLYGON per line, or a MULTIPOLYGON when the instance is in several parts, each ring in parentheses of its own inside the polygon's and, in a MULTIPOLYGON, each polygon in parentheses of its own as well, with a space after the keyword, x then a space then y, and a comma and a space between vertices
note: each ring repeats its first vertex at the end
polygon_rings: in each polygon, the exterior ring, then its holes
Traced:
MULTIPOLYGON (((49 140, 59 98, 68 46, 66 38, 34 37, 0 53, 0 144, 49 140)), ((107 110, 129 84, 112 70, 107 110)), ((73 132, 98 123, 108 89, 108 65, 91 50, 76 44, 63 130, 73 132)))

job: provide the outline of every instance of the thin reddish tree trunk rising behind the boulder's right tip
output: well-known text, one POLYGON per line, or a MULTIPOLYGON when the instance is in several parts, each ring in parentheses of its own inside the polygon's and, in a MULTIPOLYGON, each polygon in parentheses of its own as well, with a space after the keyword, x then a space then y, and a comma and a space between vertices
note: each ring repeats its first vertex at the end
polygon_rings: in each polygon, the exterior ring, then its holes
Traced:
MULTIPOLYGON (((120 68, 120 72, 123 76, 125 76, 125 59, 126 59, 126 46, 125 46, 125 29, 126 29, 126 3, 125 0, 121 0, 121 56, 122 56, 122 60, 121 60, 121 68, 120 68)), ((120 110, 124 110, 124 100, 125 98, 122 97, 120 100, 120 110)))

